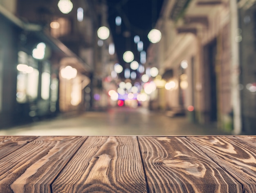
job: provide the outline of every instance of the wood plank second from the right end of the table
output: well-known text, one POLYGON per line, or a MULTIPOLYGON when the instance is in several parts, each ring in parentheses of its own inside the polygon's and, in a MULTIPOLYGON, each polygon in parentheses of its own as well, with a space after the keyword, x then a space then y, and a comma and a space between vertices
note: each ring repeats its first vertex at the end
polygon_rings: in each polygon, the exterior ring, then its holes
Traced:
POLYGON ((243 192, 256 192, 256 148, 232 136, 188 137, 243 185, 243 192))

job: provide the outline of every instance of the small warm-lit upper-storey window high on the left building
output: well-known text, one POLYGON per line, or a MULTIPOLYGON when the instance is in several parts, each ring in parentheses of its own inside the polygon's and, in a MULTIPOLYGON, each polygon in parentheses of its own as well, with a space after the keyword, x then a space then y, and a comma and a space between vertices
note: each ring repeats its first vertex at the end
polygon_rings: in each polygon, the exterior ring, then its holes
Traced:
POLYGON ((58 18, 51 22, 51 35, 55 38, 69 35, 71 31, 71 23, 68 18, 58 18))

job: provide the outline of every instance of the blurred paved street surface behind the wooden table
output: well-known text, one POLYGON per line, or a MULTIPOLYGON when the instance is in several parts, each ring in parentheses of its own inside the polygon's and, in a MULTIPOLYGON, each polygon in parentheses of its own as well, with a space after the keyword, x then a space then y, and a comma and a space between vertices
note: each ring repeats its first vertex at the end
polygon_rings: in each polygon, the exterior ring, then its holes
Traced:
POLYGON ((193 124, 184 116, 144 108, 112 108, 105 112, 85 112, 72 118, 33 122, 0 129, 0 135, 222 135, 214 124, 193 124))

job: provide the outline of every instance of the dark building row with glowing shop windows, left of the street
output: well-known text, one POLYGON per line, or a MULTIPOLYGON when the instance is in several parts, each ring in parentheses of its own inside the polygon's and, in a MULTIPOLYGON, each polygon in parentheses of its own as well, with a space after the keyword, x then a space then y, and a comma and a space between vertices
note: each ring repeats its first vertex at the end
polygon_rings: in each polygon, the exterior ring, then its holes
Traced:
POLYGON ((111 37, 97 44, 103 8, 74 1, 64 14, 51 0, 0 2, 0 127, 107 104, 94 97, 106 95, 101 81, 115 60, 111 37))

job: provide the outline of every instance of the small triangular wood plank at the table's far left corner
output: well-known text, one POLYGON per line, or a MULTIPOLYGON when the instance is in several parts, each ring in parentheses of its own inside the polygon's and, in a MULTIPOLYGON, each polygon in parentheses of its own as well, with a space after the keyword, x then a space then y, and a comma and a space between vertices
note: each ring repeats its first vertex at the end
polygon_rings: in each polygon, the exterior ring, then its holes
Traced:
POLYGON ((0 159, 36 138, 36 136, 0 136, 0 159))

